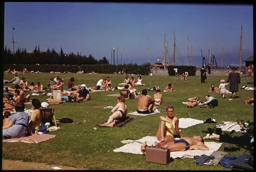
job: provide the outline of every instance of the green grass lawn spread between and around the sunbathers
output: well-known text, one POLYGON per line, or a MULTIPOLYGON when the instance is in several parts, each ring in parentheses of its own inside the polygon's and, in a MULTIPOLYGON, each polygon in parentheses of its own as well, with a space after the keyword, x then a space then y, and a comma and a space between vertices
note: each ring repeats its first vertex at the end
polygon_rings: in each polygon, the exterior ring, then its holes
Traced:
MULTIPOLYGON (((87 87, 95 87, 97 81, 102 76, 109 76, 114 87, 118 86, 118 83, 122 83, 125 78, 125 75, 115 74, 60 75, 66 83, 73 76, 75 77, 75 85, 85 83, 87 87)), ((40 82, 45 87, 49 79, 51 77, 54 78, 55 74, 20 74, 18 76, 20 78, 25 77, 28 83, 40 82)), ((5 80, 10 80, 13 77, 11 74, 4 75, 5 80)), ((182 104, 183 101, 187 101, 187 98, 195 96, 199 96, 200 101, 204 100, 204 95, 209 94, 210 85, 214 83, 218 87, 221 79, 227 80, 227 75, 211 76, 208 74, 207 78, 206 83, 200 83, 200 76, 189 76, 186 82, 181 80, 181 77, 176 76, 142 76, 143 83, 149 85, 134 88, 137 89, 137 92, 141 92, 142 89, 152 88, 153 86, 159 86, 161 89, 164 89, 168 83, 174 85, 174 92, 162 92, 163 104, 160 106, 160 109, 164 110, 167 104, 172 104, 174 106, 174 116, 178 118, 191 117, 205 120, 212 117, 217 120, 217 124, 220 124, 222 121, 236 121, 238 119, 253 122, 253 105, 243 104, 243 100, 253 97, 252 90, 239 89, 239 92, 236 93, 238 98, 233 100, 229 100, 231 94, 226 94, 225 99, 220 99, 220 94, 212 93, 211 96, 214 96, 219 101, 219 106, 212 109, 199 107, 188 109, 186 105, 182 104)), ((135 79, 137 80, 137 76, 135 76, 135 79)), ((252 82, 253 78, 249 79, 248 76, 241 76, 239 88, 242 85, 253 87, 253 84, 247 84, 248 81, 252 82)), ((14 84, 5 85, 14 87, 14 84)), ((64 85, 64 89, 67 89, 67 85, 64 85)), ((229 90, 228 85, 226 89, 229 90)), ((132 137, 137 140, 145 136, 155 136, 160 122, 159 117, 166 114, 163 111, 162 113, 148 116, 130 115, 136 117, 136 119, 123 127, 104 128, 96 126, 108 119, 110 109, 94 108, 93 106, 115 106, 117 97, 107 95, 117 93, 119 93, 118 90, 92 92, 90 93, 92 100, 88 102, 50 104, 50 107, 55 107, 56 119, 68 117, 73 119, 73 121, 83 122, 83 124, 59 123, 63 130, 52 132, 51 134, 56 135, 54 139, 39 144, 3 143, 2 157, 4 159, 43 162, 93 170, 229 170, 220 164, 217 166, 199 166, 193 163, 192 158, 174 159, 169 165, 161 165, 146 162, 143 155, 114 152, 114 149, 123 146, 120 141, 126 138, 132 137), (95 127, 97 130, 93 129, 95 127)), ((150 96, 153 96, 153 94, 154 92, 148 92, 150 96)), ((42 102, 46 101, 46 98, 49 97, 32 96, 31 99, 33 98, 38 98, 42 102)), ((136 110, 137 101, 137 99, 125 101, 128 113, 136 110)), ((26 105, 25 108, 30 108, 30 105, 26 105)), ((187 129, 180 129, 180 134, 181 136, 199 135, 204 137, 207 129, 214 128, 215 125, 194 125, 187 129)), ((233 135, 240 136, 242 133, 235 132, 233 135)), ((234 144, 223 142, 219 150, 223 151, 225 145, 237 147, 234 144)), ((243 153, 250 154, 247 149, 240 148, 237 151, 228 152, 227 155, 240 156, 243 153)))

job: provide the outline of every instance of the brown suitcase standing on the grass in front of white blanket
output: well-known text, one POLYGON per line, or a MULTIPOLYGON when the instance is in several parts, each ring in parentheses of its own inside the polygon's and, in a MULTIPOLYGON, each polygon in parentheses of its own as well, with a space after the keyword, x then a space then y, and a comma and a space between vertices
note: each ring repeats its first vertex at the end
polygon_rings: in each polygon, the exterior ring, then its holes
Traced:
POLYGON ((157 164, 169 164, 171 162, 170 150, 159 146, 146 147, 146 161, 157 164))

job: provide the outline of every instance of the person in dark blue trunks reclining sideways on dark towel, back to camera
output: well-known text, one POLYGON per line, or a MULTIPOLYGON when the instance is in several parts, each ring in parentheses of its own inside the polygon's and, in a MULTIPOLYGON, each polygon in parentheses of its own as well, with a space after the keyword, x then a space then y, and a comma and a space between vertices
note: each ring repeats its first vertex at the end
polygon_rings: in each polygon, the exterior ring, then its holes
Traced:
POLYGON ((99 126, 113 127, 117 122, 125 120, 127 112, 127 106, 125 105, 125 98, 119 96, 117 98, 116 106, 111 110, 111 114, 107 122, 99 126))

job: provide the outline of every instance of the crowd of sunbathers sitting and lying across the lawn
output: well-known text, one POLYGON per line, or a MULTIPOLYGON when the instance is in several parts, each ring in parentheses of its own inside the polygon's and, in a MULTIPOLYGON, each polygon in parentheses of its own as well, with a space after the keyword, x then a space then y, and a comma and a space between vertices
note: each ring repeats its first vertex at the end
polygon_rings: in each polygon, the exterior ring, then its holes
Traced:
MULTIPOLYGON (((15 75, 17 77, 17 75, 15 75)), ((109 77, 103 77, 96 84, 96 87, 87 88, 85 84, 74 85, 74 77, 70 78, 68 82, 68 90, 63 90, 63 85, 65 85, 63 79, 60 78, 60 75, 55 75, 55 78, 51 78, 48 83, 48 90, 60 90, 62 96, 76 95, 76 99, 71 101, 87 101, 90 99, 89 91, 93 90, 106 90, 112 89, 112 83, 109 77)), ((140 114, 149 114, 153 113, 158 106, 160 106, 163 101, 163 95, 159 87, 153 87, 152 89, 143 89, 141 91, 141 96, 138 96, 140 93, 136 92, 136 89, 133 89, 132 86, 143 85, 142 77, 138 76, 138 81, 135 82, 134 77, 129 79, 127 75, 123 83, 119 85, 124 86, 125 89, 130 90, 134 97, 138 98, 137 112, 140 114), (147 95, 148 91, 155 91, 154 99, 147 95)), ((215 87, 214 84, 211 85, 209 92, 219 92, 222 94, 221 98, 224 98, 226 93, 225 89, 225 80, 220 81, 219 88, 215 87)), ((18 138, 26 136, 27 134, 37 134, 39 131, 39 126, 41 123, 42 115, 40 108, 47 107, 44 103, 40 103, 38 99, 32 99, 31 106, 34 110, 31 117, 24 112, 24 103, 30 102, 31 94, 24 96, 24 91, 41 91, 43 90, 42 84, 39 82, 34 85, 31 83, 28 86, 28 82, 23 77, 20 83, 16 84, 14 89, 10 87, 4 87, 3 92, 6 94, 3 97, 3 138, 18 138), (16 115, 10 115, 10 112, 15 109, 16 115)), ((171 83, 164 89, 164 91, 172 92, 173 85, 171 83)), ((196 105, 201 105, 204 107, 212 108, 218 105, 218 100, 210 95, 205 95, 205 102, 200 102, 199 97, 193 97, 187 99, 187 107, 194 107, 196 105)), ((48 101, 56 102, 56 101, 48 101)), ((254 99, 245 100, 245 104, 253 104, 254 99)), ((209 150, 207 146, 204 145, 204 141, 200 136, 194 137, 180 137, 179 132, 179 119, 174 116, 174 107, 172 105, 167 105, 165 107, 166 115, 160 116, 160 125, 157 130, 156 136, 157 140, 160 142, 155 142, 156 145, 163 148, 168 148, 170 151, 185 151, 188 149, 198 148, 201 150, 209 150), (174 131, 177 134, 177 137, 180 137, 179 140, 174 140, 174 131)), ((111 110, 111 115, 109 116, 107 122, 101 124, 100 126, 113 127, 117 122, 123 121, 126 118, 127 106, 125 105, 125 98, 119 96, 117 98, 116 106, 111 110)), ((214 137, 216 135, 212 135, 214 137)), ((211 137, 205 137, 209 139, 211 137)), ((141 145, 141 151, 143 154, 146 154, 146 142, 143 142, 141 145)))

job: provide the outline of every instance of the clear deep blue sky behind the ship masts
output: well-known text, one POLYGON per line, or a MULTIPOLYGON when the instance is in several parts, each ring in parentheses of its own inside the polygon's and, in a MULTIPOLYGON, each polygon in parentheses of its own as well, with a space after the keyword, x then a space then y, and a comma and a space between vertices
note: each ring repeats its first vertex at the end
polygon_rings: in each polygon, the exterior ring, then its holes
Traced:
POLYGON ((224 65, 239 64, 241 25, 243 26, 243 59, 253 55, 252 5, 191 5, 163 3, 89 3, 89 2, 6 2, 5 45, 13 49, 12 27, 15 27, 15 49, 32 51, 54 48, 103 56, 115 63, 142 64, 148 59, 163 60, 164 34, 169 59, 176 36, 176 64, 184 65, 189 34, 189 56, 200 65, 201 49, 209 58, 211 49, 221 65, 224 42, 224 65), (149 38, 149 39, 148 39, 149 38), (148 47, 148 48, 147 48, 148 47))

